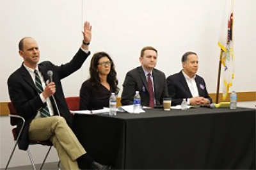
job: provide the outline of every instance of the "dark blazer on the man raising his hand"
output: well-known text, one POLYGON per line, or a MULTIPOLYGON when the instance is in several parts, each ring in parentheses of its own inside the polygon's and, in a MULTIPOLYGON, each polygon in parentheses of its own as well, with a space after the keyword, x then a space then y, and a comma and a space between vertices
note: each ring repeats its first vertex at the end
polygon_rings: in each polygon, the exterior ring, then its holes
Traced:
MULTIPOLYGON (((56 93, 54 93, 54 98, 58 105, 61 116, 67 120, 67 123, 70 122, 70 112, 68 111, 68 106, 65 102, 65 97, 61 86, 61 79, 81 68, 89 54, 86 54, 83 50, 79 49, 74 58, 65 65, 56 66, 50 61, 44 61, 38 64, 38 69, 42 73, 45 81, 49 79, 47 76, 47 71, 52 70, 52 81, 54 81, 56 84, 56 93)), ((27 150, 29 144, 29 124, 35 118, 38 110, 44 106, 44 103, 36 92, 35 83, 33 82, 31 75, 29 74, 28 70, 26 70, 23 63, 20 68, 10 75, 7 83, 10 100, 12 101, 19 116, 22 116, 26 121, 18 144, 20 150, 27 150)), ((58 115, 56 105, 54 104, 52 97, 50 100, 54 109, 54 114, 58 115)), ((18 130, 20 130, 21 125, 22 121, 19 121, 17 125, 18 130)))

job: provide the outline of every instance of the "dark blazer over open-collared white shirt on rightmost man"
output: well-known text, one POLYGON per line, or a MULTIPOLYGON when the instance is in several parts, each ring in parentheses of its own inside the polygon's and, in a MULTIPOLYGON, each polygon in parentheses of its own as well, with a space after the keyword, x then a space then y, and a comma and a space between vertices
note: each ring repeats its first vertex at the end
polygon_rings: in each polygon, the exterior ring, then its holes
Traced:
MULTIPOLYGON (((212 103, 212 99, 208 95, 206 84, 203 77, 196 75, 195 81, 199 96, 208 98, 210 103, 212 103)), ((172 98, 172 105, 181 104, 183 98, 192 98, 192 94, 189 90, 188 84, 182 71, 170 75, 167 78, 167 87, 169 96, 172 98)))

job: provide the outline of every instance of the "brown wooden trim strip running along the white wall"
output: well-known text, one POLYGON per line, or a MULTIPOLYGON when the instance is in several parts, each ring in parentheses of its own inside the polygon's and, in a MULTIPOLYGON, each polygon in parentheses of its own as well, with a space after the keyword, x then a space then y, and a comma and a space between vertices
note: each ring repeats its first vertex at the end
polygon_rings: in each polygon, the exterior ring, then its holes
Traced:
MULTIPOLYGON (((209 93, 209 96, 212 98, 213 102, 216 101, 216 93, 209 93)), ((228 93, 228 97, 225 101, 222 100, 222 93, 219 95, 219 102, 228 102, 230 98, 230 93, 228 93)), ((117 98, 117 105, 120 106, 120 99, 117 98)), ((238 102, 250 102, 256 101, 256 91, 248 91, 248 92, 237 92, 237 101, 238 102)), ((0 116, 8 116, 9 109, 7 106, 8 102, 0 102, 0 116)))

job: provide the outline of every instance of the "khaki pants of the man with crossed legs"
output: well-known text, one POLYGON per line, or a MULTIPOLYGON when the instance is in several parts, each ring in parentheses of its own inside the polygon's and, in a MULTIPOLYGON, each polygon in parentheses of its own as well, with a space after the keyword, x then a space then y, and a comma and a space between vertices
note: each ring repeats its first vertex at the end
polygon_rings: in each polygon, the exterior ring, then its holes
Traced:
POLYGON ((50 139, 65 170, 78 170, 76 159, 86 153, 61 116, 34 119, 29 127, 29 139, 38 141, 50 139))

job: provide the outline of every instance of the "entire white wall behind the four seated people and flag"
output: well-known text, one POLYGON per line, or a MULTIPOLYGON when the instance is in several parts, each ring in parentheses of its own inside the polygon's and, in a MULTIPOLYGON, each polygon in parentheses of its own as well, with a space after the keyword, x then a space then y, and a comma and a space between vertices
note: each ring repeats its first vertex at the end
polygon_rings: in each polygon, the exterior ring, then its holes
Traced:
MULTIPOLYGON (((141 48, 152 45, 159 50, 157 68, 166 76, 179 72, 184 52, 197 52, 198 74, 205 78, 208 91, 214 93, 220 55, 217 42, 225 4, 223 0, 0 0, 0 102, 9 101, 6 80, 22 63, 17 48, 20 38, 33 36, 41 60, 60 65, 79 48, 83 20, 93 25, 92 53, 104 50, 114 59, 120 88, 125 73, 139 65, 141 48)), ((256 91, 255 6, 255 0, 235 0, 236 91, 256 91)), ((63 80, 66 96, 78 95, 81 83, 88 78, 89 63, 90 58, 81 70, 63 80)), ((8 121, 0 118, 1 136, 10 133, 8 121)), ((12 144, 12 137, 0 139, 0 168, 6 164, 2 160, 12 144)), ((56 155, 52 157, 58 160, 56 155)), ((26 156, 21 158, 13 160, 11 166, 28 164, 26 156)))

